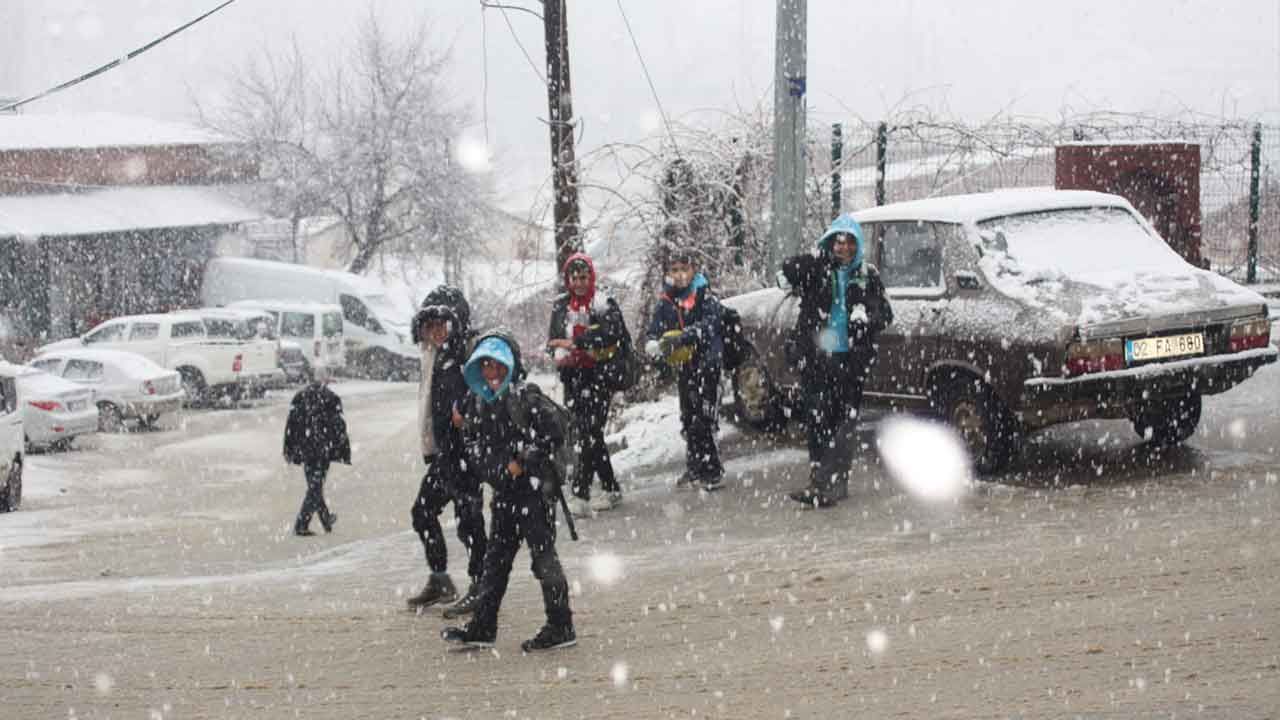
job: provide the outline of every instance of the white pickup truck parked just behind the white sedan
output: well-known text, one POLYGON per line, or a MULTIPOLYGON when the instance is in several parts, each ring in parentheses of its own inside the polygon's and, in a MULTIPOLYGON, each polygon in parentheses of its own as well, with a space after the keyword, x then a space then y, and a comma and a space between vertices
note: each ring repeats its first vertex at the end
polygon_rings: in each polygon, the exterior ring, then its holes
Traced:
POLYGON ((105 347, 137 352, 182 375, 187 402, 239 397, 251 378, 242 378, 242 343, 210 338, 205 320, 192 313, 125 315, 110 319, 81 337, 40 347, 36 355, 73 347, 105 347))

